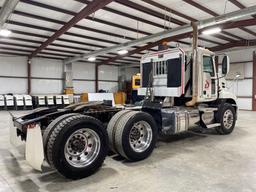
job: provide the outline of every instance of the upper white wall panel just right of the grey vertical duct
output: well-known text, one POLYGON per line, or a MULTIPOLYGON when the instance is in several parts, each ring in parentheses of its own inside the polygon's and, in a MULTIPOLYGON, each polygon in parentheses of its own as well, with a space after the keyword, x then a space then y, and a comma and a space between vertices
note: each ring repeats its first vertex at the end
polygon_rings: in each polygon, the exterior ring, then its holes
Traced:
POLYGON ((95 79, 95 65, 75 62, 72 66, 74 79, 95 79))

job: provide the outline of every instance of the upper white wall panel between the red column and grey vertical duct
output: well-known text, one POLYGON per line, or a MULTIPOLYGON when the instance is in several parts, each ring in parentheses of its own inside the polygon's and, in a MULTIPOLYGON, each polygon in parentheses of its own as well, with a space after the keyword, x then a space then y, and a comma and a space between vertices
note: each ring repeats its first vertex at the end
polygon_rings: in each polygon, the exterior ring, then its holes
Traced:
POLYGON ((32 77, 62 78, 63 62, 54 59, 33 59, 31 66, 32 77))

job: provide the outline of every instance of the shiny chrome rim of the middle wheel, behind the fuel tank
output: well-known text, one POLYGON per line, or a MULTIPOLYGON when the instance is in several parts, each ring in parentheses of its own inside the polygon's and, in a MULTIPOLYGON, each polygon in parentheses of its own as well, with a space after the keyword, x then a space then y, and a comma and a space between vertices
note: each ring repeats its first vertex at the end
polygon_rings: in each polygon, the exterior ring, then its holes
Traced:
POLYGON ((136 152, 145 151, 152 141, 152 129, 146 121, 135 123, 129 134, 129 143, 136 152))

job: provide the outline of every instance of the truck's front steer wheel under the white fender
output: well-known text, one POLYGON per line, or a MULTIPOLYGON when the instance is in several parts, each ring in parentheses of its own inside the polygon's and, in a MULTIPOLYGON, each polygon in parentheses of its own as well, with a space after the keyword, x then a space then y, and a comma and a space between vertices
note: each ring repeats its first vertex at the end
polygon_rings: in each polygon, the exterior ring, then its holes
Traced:
POLYGON ((221 124, 216 131, 221 135, 232 133, 236 124, 236 111, 234 107, 225 103, 218 113, 218 122, 221 124))

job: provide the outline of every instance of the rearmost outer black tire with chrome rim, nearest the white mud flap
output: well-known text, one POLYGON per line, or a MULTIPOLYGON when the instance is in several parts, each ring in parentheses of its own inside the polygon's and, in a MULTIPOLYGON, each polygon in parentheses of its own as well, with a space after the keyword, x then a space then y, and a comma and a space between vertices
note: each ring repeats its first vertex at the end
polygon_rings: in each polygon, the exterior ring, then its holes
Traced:
POLYGON ((103 124, 85 115, 63 119, 54 127, 47 143, 50 166, 70 179, 93 174, 107 152, 108 137, 103 124))

